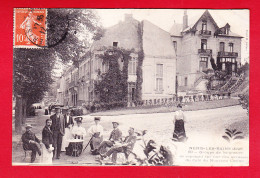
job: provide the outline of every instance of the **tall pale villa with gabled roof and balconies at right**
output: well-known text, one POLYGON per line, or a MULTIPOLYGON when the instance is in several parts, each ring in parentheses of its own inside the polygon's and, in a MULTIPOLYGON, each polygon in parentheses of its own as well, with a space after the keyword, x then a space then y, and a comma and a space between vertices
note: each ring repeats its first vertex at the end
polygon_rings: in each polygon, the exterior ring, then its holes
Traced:
POLYGON ((208 10, 199 19, 190 22, 191 25, 187 25, 186 11, 183 20, 185 25, 174 24, 170 30, 177 54, 179 91, 206 90, 205 85, 197 81, 208 69, 212 69, 211 57, 219 70, 235 74, 241 63, 242 37, 233 33, 229 24, 219 27, 208 10))

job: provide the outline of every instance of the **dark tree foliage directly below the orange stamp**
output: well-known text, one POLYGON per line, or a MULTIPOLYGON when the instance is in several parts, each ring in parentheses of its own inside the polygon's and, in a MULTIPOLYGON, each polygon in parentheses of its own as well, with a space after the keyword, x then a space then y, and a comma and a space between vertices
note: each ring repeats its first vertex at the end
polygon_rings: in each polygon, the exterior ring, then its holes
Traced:
POLYGON ((26 99, 27 105, 42 100, 53 82, 52 58, 46 57, 45 49, 14 49, 13 92, 26 99))

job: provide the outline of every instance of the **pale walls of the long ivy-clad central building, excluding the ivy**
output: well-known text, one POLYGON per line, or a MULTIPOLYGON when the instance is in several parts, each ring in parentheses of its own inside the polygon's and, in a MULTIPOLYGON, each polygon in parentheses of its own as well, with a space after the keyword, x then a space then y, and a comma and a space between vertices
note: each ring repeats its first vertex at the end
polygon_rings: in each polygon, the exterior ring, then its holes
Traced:
MULTIPOLYGON (((92 104, 98 101, 95 82, 100 74, 108 71, 99 54, 104 47, 118 47, 134 50, 128 64, 128 103, 135 102, 137 92, 137 66, 140 53, 143 52, 141 100, 171 98, 175 94, 176 54, 170 33, 160 29, 149 21, 139 22, 131 14, 125 20, 105 30, 103 37, 95 41, 91 51, 81 57, 76 68, 72 66, 64 72, 64 104, 76 106, 92 104)), ((120 61, 119 61, 120 63, 120 61)), ((121 64, 120 64, 121 65, 121 64)), ((60 90, 61 91, 61 90, 60 90)))

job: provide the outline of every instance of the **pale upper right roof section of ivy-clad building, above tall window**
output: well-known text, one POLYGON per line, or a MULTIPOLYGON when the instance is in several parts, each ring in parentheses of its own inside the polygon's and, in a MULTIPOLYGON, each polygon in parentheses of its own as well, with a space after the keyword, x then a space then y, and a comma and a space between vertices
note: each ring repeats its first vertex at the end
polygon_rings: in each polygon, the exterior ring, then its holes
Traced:
POLYGON ((175 50, 170 33, 151 22, 143 22, 143 50, 145 56, 174 58, 175 50))

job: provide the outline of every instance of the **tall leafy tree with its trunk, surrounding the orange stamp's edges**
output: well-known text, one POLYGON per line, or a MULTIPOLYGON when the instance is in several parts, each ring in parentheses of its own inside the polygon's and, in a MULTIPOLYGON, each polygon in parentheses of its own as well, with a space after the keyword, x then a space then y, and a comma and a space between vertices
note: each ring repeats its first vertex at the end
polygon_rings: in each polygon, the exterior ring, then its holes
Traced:
POLYGON ((89 9, 48 9, 47 45, 42 49, 15 48, 13 53, 13 94, 16 98, 15 131, 28 106, 43 99, 52 80, 55 60, 78 66, 93 39, 103 30, 95 11, 89 9))

